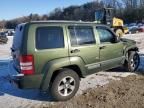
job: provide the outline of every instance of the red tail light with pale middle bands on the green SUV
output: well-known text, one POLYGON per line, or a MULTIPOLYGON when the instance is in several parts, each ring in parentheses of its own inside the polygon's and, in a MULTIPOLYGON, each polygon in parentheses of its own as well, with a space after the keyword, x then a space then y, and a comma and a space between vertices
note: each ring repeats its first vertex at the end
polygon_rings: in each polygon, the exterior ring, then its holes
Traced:
POLYGON ((21 73, 24 75, 34 74, 34 58, 33 55, 20 56, 21 73))

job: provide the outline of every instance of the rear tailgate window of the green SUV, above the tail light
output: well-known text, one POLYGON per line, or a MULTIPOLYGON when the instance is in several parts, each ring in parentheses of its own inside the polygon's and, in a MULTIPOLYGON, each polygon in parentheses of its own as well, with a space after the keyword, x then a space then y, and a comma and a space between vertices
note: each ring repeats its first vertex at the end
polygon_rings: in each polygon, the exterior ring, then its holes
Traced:
POLYGON ((13 45, 12 45, 12 48, 14 50, 19 50, 21 47, 23 31, 24 31, 24 25, 18 25, 15 28, 15 35, 13 38, 13 45))

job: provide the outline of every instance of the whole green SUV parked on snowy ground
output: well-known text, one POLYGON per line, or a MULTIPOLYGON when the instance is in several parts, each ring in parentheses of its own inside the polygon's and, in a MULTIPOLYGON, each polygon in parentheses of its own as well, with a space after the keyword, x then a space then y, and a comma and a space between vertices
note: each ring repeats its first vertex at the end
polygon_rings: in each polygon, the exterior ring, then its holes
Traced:
POLYGON ((94 22, 20 24, 11 51, 19 88, 50 91, 57 101, 72 98, 87 75, 122 65, 133 72, 140 62, 135 41, 94 22))

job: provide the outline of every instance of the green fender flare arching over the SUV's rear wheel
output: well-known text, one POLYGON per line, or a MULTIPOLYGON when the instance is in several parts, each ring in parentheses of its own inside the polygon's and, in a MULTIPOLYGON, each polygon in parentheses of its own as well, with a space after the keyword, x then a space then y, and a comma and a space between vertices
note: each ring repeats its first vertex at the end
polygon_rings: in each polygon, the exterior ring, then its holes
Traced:
POLYGON ((71 64, 69 58, 53 60, 46 63, 43 68, 44 77, 40 89, 42 91, 47 91, 54 76, 57 75, 60 70, 66 68, 75 71, 80 78, 85 76, 84 67, 81 67, 80 64, 71 64))

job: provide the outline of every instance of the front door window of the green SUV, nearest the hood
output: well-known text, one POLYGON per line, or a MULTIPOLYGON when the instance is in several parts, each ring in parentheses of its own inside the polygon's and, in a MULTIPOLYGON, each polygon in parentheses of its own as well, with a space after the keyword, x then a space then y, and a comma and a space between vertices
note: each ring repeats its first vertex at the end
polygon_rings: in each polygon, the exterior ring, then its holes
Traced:
POLYGON ((100 37, 100 42, 112 42, 113 34, 106 28, 96 28, 100 37))

